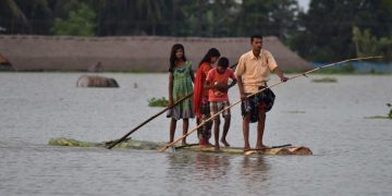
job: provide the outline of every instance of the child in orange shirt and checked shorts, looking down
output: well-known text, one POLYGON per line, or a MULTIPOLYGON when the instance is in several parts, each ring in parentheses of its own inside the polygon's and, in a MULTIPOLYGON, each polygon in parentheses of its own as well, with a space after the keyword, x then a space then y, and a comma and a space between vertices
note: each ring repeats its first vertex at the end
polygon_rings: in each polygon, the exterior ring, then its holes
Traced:
MULTIPOLYGON (((234 73, 229 68, 229 59, 220 58, 218 61, 217 68, 210 70, 208 72, 206 78, 206 88, 208 88, 208 101, 210 102, 210 112, 211 115, 215 115, 219 111, 230 106, 228 90, 230 87, 236 84, 236 78, 234 73), (232 81, 229 84, 229 78, 232 81)), ((225 137, 229 132, 231 114, 230 109, 222 112, 222 117, 224 119, 223 125, 223 134, 221 138, 221 143, 229 147, 229 143, 225 137)), ((220 117, 217 115, 213 119, 213 136, 215 136, 215 150, 219 150, 219 125, 220 125, 220 117)))

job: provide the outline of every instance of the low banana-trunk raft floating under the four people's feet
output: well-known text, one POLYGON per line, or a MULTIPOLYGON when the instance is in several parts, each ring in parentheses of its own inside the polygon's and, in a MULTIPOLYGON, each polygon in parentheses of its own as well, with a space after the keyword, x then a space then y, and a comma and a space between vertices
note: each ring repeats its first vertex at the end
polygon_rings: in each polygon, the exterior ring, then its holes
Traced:
MULTIPOLYGON (((81 142, 72 138, 51 138, 49 139, 49 145, 51 146, 71 146, 71 147, 107 147, 111 142, 101 142, 101 143, 91 143, 91 142, 81 142)), ((131 148, 131 149, 146 149, 146 150, 158 150, 166 143, 148 142, 148 140, 136 140, 127 139, 118 145, 115 148, 131 148)), ((216 151, 213 147, 200 147, 197 144, 186 145, 186 146, 175 146, 175 150, 189 150, 198 152, 223 152, 223 154, 233 154, 233 155, 313 155, 311 150, 308 147, 294 147, 291 145, 277 146, 272 148, 267 148, 262 150, 248 150, 244 152, 244 149, 241 147, 221 147, 219 151, 216 151)))

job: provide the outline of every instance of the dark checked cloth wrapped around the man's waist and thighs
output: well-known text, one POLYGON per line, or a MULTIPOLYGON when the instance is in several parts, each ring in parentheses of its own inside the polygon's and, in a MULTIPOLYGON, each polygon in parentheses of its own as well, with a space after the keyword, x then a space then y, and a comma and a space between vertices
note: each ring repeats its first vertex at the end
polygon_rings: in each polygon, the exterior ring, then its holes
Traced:
MULTIPOLYGON (((259 89, 262 88, 264 87, 260 87, 259 89)), ((270 88, 267 88, 261 93, 249 97, 247 100, 242 101, 241 113, 243 117, 245 117, 250 112, 250 122, 252 123, 257 122, 259 109, 262 109, 266 112, 270 111, 272 109, 274 98, 275 95, 273 94, 273 91, 270 88)))

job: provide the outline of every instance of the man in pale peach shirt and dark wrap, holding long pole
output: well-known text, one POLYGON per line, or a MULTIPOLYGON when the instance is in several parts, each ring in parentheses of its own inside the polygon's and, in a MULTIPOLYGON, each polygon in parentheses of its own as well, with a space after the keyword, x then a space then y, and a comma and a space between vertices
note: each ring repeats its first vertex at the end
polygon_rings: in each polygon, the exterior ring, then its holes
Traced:
POLYGON ((244 151, 250 150, 249 122, 258 122, 256 149, 262 150, 268 148, 268 146, 262 143, 262 135, 266 123, 266 112, 271 110, 274 101, 274 94, 269 88, 249 98, 247 98, 247 96, 267 87, 270 71, 273 71, 280 77, 281 82, 289 79, 278 68, 271 52, 262 49, 262 36, 252 36, 250 45, 252 50, 241 56, 235 70, 240 95, 243 100, 241 110, 245 143, 244 151))

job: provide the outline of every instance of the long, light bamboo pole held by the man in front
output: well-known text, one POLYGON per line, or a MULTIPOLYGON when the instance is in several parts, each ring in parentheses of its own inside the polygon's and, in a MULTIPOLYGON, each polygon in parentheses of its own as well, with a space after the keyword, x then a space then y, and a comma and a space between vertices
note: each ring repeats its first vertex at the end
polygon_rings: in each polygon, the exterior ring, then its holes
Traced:
MULTIPOLYGON (((358 60, 367 60, 367 59, 379 59, 379 58, 382 58, 382 57, 376 56, 376 57, 364 57, 364 58, 347 59, 347 60, 344 60, 344 61, 340 61, 340 62, 335 62, 335 63, 331 63, 331 64, 326 64, 326 65, 323 65, 323 66, 319 66, 319 68, 309 70, 309 71, 307 71, 307 72, 304 72, 304 73, 294 75, 294 76, 290 77, 287 81, 294 79, 294 78, 299 77, 299 76, 306 76, 306 74, 309 74, 309 73, 311 73, 311 72, 315 72, 315 71, 318 71, 318 70, 321 70, 321 69, 324 69, 324 68, 329 68, 329 66, 334 66, 334 65, 338 65, 338 64, 346 63, 346 62, 350 62, 350 61, 358 61, 358 60)), ((256 94, 260 94, 260 93, 262 93, 264 90, 266 90, 266 89, 268 89, 268 88, 272 88, 272 87, 274 87, 274 86, 278 86, 278 85, 282 84, 282 83, 284 83, 284 82, 279 82, 279 83, 272 84, 271 86, 268 86, 268 87, 262 88, 262 89, 260 89, 260 90, 258 90, 258 91, 256 91, 256 93, 254 93, 254 94, 250 94, 250 95, 246 96, 246 98, 249 98, 249 97, 252 97, 252 96, 254 96, 254 95, 256 95, 256 94)), ((189 132, 186 133, 185 135, 183 135, 183 136, 181 136, 180 138, 175 139, 173 143, 170 143, 170 144, 163 146, 162 148, 158 149, 158 151, 163 152, 163 151, 167 150, 169 147, 173 146, 175 143, 182 140, 184 137, 186 137, 186 136, 191 135, 193 132, 197 131, 197 128, 201 127, 201 126, 203 126, 205 123, 207 123, 208 121, 215 119, 217 115, 221 114, 223 111, 225 111, 225 110, 234 107, 235 105, 237 105, 237 103, 240 103, 240 102, 242 102, 241 99, 237 100, 236 102, 234 102, 233 105, 223 108, 221 111, 219 111, 219 112, 217 112, 216 114, 211 115, 209 119, 203 121, 200 124, 198 124, 195 128, 193 128, 192 131, 189 131, 189 132)))

